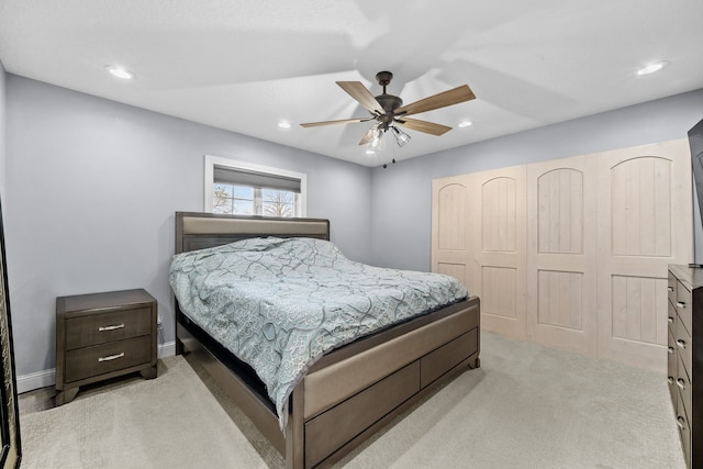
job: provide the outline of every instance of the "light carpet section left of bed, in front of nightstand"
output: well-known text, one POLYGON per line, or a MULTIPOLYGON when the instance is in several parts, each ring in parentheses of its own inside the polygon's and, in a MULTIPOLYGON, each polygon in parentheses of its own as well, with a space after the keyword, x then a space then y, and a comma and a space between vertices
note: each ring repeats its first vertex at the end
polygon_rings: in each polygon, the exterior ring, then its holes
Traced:
POLYGON ((180 356, 129 380, 20 415, 22 468, 265 468, 180 356))

